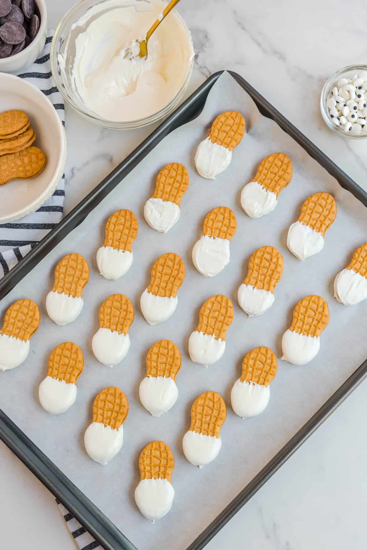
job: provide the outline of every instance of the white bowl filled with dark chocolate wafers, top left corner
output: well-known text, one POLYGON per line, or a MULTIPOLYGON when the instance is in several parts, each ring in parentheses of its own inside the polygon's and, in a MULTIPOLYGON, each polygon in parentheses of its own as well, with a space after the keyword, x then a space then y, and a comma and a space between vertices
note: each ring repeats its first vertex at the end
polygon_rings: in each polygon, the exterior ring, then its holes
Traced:
POLYGON ((17 73, 45 47, 45 0, 0 0, 0 72, 17 73))

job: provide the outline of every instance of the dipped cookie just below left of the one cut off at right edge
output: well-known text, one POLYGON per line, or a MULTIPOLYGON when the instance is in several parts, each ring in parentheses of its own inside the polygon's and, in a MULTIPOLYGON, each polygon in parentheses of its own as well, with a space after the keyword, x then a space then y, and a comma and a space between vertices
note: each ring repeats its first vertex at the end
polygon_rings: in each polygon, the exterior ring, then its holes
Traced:
POLYGON ((284 361, 306 365, 320 349, 320 334, 329 322, 329 309, 324 298, 312 294, 298 302, 293 310, 291 327, 283 334, 284 361))

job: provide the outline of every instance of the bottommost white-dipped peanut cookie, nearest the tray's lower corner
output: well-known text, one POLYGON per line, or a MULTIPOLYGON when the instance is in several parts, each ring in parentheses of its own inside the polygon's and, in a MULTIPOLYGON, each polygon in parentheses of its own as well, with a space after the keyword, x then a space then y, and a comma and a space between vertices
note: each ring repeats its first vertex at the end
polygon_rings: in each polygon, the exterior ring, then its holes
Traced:
POLYGON ((173 468, 172 450, 163 441, 151 441, 140 453, 140 482, 135 489, 135 502, 141 514, 153 523, 171 510, 173 468))

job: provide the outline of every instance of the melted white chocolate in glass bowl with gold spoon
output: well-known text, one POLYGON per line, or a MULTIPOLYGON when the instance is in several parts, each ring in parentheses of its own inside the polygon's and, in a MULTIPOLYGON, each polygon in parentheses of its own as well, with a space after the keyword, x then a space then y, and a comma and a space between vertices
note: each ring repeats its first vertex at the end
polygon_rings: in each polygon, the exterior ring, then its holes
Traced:
POLYGON ((182 89, 194 51, 176 13, 168 14, 150 37, 147 58, 125 57, 129 48, 139 51, 134 41, 144 40, 166 5, 162 0, 106 0, 73 24, 58 61, 82 111, 113 122, 139 120, 161 111, 182 89))

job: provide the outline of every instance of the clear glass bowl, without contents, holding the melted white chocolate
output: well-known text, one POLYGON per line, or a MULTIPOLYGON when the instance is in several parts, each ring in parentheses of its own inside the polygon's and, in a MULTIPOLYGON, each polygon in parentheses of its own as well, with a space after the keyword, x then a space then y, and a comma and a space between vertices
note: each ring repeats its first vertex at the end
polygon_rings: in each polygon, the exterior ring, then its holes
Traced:
MULTIPOLYGON (((69 9, 69 11, 64 15, 62 20, 60 21, 56 31, 53 35, 53 40, 51 44, 51 52, 50 52, 50 61, 51 61, 51 72, 53 75, 53 78, 55 80, 56 86, 58 87, 58 90, 61 92, 61 94, 64 97, 64 100, 69 103, 70 106, 72 106, 75 111, 77 111, 79 114, 81 114, 82 117, 86 118, 87 120, 90 120, 90 122, 93 122, 95 124, 98 124, 99 126, 102 126, 104 128, 113 128, 113 129, 129 129, 129 128, 141 128, 143 126, 146 126, 148 124, 152 124, 156 122, 157 120, 160 120, 163 117, 167 117, 169 113, 171 113, 179 104, 179 102, 182 100, 184 93, 187 89, 187 86, 189 84, 190 76, 193 71, 193 64, 194 64, 194 46, 193 46, 193 40, 191 38, 191 34, 189 29, 187 28, 187 25, 185 24, 185 21, 182 19, 182 17, 179 15, 178 12, 176 12, 175 9, 172 10, 173 17, 176 17, 176 19, 179 20, 180 24, 184 27, 185 31, 187 32, 188 41, 191 46, 191 50, 193 52, 193 55, 190 58, 189 65, 187 68, 187 73, 183 82, 182 87, 177 92, 176 95, 174 95, 167 103, 165 107, 163 107, 160 111, 157 111, 156 113, 152 113, 150 116, 145 118, 140 118, 138 120, 128 120, 128 121, 118 121, 115 120, 107 120, 102 117, 98 117, 97 114, 93 113, 88 109, 83 102, 80 100, 80 98, 76 98, 75 94, 70 86, 69 79, 64 78, 63 74, 67 73, 67 69, 64 71, 61 71, 59 61, 58 61, 58 55, 59 53, 64 53, 65 47, 67 46, 68 42, 68 36, 70 31, 72 31, 72 27, 76 21, 79 20, 80 17, 82 17, 88 9, 93 7, 94 5, 101 4, 105 0, 80 0, 77 2, 72 8, 69 9)), ((171 17, 171 14, 170 14, 171 17)), ((73 56, 75 56, 75 38, 73 36, 73 41, 70 43, 69 51, 67 56, 67 64, 70 68, 71 65, 71 59, 74 59, 73 56)))

